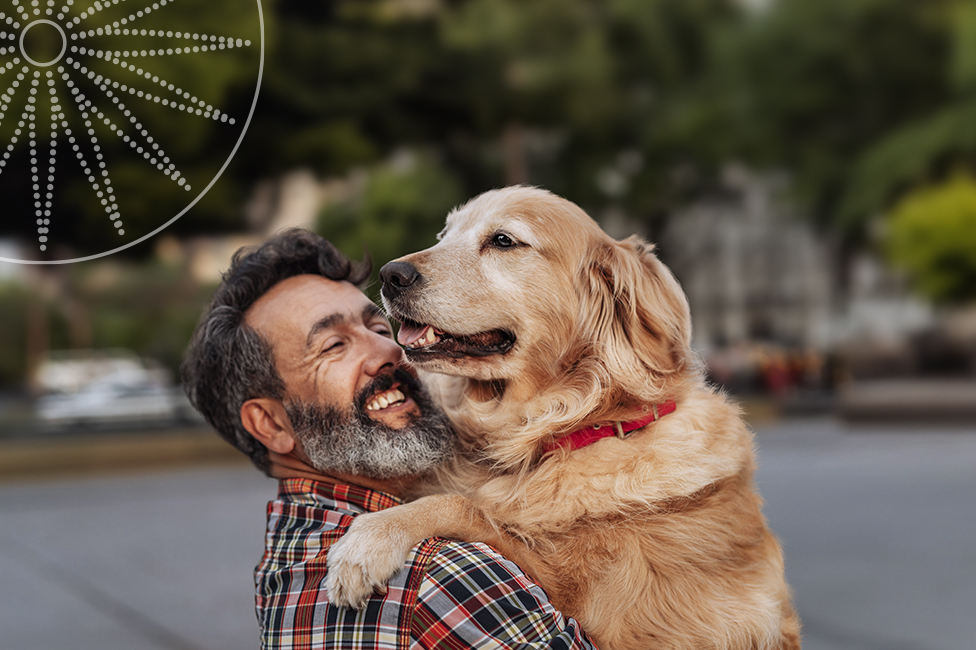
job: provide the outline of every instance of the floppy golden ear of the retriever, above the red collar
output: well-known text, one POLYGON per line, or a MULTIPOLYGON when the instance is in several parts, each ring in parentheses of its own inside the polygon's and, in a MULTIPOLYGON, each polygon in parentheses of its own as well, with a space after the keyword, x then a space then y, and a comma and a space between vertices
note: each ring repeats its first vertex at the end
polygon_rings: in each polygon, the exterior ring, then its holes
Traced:
POLYGON ((650 373, 664 388, 692 364, 691 316, 678 281, 653 250, 636 235, 595 244, 579 283, 580 321, 615 381, 642 384, 650 373))

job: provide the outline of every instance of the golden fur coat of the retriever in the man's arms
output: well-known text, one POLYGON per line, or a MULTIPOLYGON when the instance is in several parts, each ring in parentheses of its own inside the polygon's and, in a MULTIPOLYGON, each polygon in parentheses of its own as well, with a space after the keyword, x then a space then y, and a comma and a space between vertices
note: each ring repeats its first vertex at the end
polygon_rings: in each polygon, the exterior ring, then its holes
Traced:
POLYGON ((440 535, 498 548, 605 649, 798 649, 751 435, 704 383, 687 301, 652 247, 527 187, 473 199, 439 239, 399 260, 419 275, 384 301, 462 341, 407 352, 438 373, 465 449, 447 494, 356 518, 329 553, 334 601, 361 603, 440 535), (499 332, 510 349, 468 353, 499 332), (674 413, 627 439, 545 452, 667 400, 674 413))

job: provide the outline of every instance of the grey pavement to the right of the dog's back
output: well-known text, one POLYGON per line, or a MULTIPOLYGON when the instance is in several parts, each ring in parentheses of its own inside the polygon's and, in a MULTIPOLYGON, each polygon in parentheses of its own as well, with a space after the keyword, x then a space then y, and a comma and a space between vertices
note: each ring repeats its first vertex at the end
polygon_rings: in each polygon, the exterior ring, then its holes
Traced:
POLYGON ((976 648, 976 426, 757 428, 806 650, 976 648))

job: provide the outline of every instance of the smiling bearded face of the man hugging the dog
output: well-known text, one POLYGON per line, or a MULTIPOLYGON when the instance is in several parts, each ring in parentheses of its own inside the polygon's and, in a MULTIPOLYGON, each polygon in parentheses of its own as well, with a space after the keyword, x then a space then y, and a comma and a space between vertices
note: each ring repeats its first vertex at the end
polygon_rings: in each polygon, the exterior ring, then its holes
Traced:
POLYGON ((317 469, 405 476, 431 469, 452 449, 446 420, 406 365, 386 318, 353 285, 288 278, 245 320, 274 350, 295 437, 317 469))

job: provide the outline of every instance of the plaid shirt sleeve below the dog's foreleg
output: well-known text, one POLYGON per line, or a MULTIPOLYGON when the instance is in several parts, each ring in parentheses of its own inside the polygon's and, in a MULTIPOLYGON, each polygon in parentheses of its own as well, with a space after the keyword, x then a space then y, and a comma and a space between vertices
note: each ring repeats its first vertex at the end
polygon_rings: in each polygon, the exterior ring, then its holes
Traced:
POLYGON ((429 650, 596 648, 514 563, 486 544, 448 540, 421 581, 411 636, 429 650))

